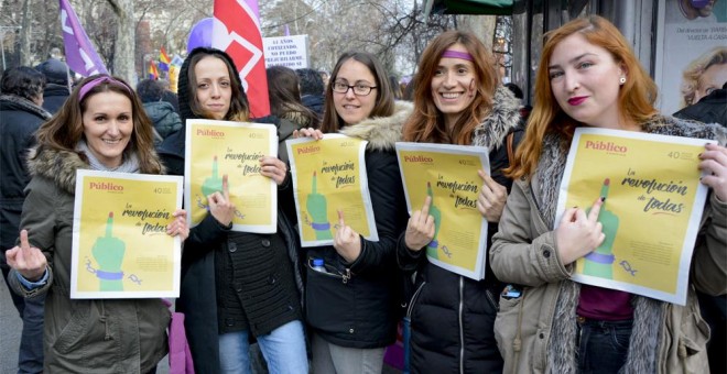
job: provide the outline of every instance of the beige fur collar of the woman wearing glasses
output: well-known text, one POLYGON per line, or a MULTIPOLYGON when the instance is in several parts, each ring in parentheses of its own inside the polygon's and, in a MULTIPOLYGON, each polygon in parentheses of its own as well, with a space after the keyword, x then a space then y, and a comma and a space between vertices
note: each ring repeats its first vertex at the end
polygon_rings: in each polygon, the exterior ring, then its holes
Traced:
POLYGON ((401 142, 401 129, 413 110, 411 102, 397 101, 391 117, 369 118, 338 132, 368 141, 367 151, 393 151, 394 144, 401 142))

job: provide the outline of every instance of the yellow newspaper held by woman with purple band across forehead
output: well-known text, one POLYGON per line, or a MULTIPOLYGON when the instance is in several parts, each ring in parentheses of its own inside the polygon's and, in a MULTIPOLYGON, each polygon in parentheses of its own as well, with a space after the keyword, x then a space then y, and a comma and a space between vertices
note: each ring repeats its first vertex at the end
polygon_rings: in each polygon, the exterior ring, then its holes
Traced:
POLYGON ((397 156, 410 215, 432 197, 434 240, 426 246, 428 261, 479 280, 485 278, 487 221, 477 210, 482 180, 490 173, 485 147, 397 143, 397 156))

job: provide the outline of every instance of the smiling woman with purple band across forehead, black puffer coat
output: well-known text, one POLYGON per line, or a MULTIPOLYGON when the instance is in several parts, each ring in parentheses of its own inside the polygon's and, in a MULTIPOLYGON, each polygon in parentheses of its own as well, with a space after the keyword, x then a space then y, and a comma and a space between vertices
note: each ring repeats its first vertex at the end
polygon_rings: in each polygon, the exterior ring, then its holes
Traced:
MULTIPOLYGON (((477 208, 491 235, 512 180, 502 175, 510 164, 506 139, 517 143, 519 100, 500 86, 495 63, 474 34, 448 31, 424 51, 414 81, 414 114, 404 124, 406 142, 486 146, 490 175, 482 180, 477 208), (512 133, 512 136, 509 134, 512 133)), ((410 301, 412 373, 500 373, 502 358, 492 332, 502 284, 487 266, 484 280, 463 277, 426 260, 422 251, 434 238, 431 198, 414 211, 397 249, 399 266, 416 271, 410 301)), ((438 219, 438 218, 437 218, 438 219)))

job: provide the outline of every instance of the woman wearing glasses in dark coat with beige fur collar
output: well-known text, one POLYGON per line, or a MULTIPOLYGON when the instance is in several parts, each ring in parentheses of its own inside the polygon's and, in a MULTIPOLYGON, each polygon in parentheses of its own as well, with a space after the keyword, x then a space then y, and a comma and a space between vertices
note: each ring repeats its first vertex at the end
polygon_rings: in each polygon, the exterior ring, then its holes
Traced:
POLYGON ((412 108, 394 103, 387 77, 375 56, 345 53, 326 88, 321 130, 300 133, 321 139, 323 133, 339 132, 369 142, 366 172, 379 233, 378 242, 362 239, 340 217, 334 245, 308 250, 306 316, 316 374, 380 373, 384 348, 395 338, 394 254, 408 215, 394 143, 412 108), (328 274, 313 271, 312 258, 323 258, 328 274))

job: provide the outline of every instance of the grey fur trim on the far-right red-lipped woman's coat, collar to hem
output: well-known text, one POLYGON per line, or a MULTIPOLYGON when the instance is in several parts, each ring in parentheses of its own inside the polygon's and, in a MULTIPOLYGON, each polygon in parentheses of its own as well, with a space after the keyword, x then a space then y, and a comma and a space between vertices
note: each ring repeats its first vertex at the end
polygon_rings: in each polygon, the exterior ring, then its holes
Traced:
MULTIPOLYGON (((727 141, 727 130, 717 124, 704 124, 672 117, 655 116, 643 124, 643 130, 647 133, 662 135, 716 139, 720 144, 725 144, 727 141)), ((557 191, 563 178, 568 145, 554 134, 549 134, 543 140, 543 153, 540 156, 535 176, 539 183, 536 193, 540 198, 538 209, 550 228, 553 228, 555 220, 557 191)), ((577 372, 575 319, 579 295, 579 284, 571 280, 561 283, 553 317, 553 333, 551 333, 551 341, 547 344, 547 366, 551 373, 577 372)), ((632 305, 631 343, 627 361, 620 373, 655 373, 660 334, 668 304, 634 295, 632 305)))

